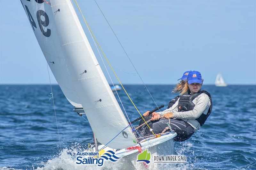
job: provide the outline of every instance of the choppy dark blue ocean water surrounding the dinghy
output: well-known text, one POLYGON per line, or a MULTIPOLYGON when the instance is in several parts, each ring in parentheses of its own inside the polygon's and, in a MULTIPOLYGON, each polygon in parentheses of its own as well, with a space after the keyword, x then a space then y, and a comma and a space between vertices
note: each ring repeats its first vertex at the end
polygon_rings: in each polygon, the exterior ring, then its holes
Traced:
MULTIPOLYGON (((143 85, 125 88, 142 113, 156 107, 143 85)), ((177 95, 172 88, 148 85, 156 103, 165 108, 177 95)), ((175 154, 185 155, 187 163, 170 169, 256 169, 256 86, 203 89, 212 94, 212 114, 187 141, 174 142, 175 154)), ((0 86, 0 169, 94 169, 77 166, 70 154, 86 148, 87 142, 79 143, 92 141, 89 123, 73 112, 60 87, 53 85, 59 143, 50 93, 50 85, 0 86)), ((118 94, 129 118, 139 117, 124 91, 118 94)))

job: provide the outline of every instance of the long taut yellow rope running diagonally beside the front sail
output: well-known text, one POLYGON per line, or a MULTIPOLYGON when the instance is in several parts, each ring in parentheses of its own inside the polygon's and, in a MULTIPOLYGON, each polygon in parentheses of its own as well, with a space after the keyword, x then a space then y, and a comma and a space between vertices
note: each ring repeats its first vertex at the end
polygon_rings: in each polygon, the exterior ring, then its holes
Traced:
MULTIPOLYGON (((84 18, 84 15, 83 15, 82 11, 80 10, 80 8, 79 8, 79 6, 78 6, 76 0, 74 0, 74 1, 75 1, 75 3, 76 3, 76 6, 77 6, 78 10, 80 11, 82 17, 84 18)), ((91 28, 89 27, 89 25, 88 25, 87 21, 85 20, 85 18, 84 18, 84 22, 86 23, 86 25, 87 25, 87 27, 89 28, 89 30, 90 30, 90 32, 91 32, 91 34, 92 34, 94 40, 96 41, 97 45, 98 45, 99 48, 100 48, 100 44, 99 44, 98 41, 96 40, 96 38, 95 38, 94 34, 92 33, 92 30, 91 30, 91 28)), ((123 89, 124 89, 124 86, 122 85, 121 81, 120 81, 119 78, 117 77, 116 72, 115 72, 114 69, 112 68, 111 64, 109 63, 109 61, 108 61, 106 55, 104 54, 104 52, 102 51, 101 48, 100 48, 100 51, 101 51, 101 53, 104 55, 105 59, 106 59, 107 62, 108 62, 108 65, 110 66, 111 70, 112 70, 113 73, 115 74, 115 76, 116 76, 117 80, 119 81, 120 85, 121 85, 121 86, 123 87, 123 89)), ((136 110, 137 110, 138 113, 140 114, 140 111, 139 111, 138 108, 135 106, 135 104, 133 103, 132 99, 130 98, 129 94, 126 92, 125 89, 124 89, 124 92, 127 94, 128 98, 131 100, 133 106, 136 108, 136 110)), ((140 116, 142 117, 142 119, 144 120, 144 122, 146 122, 145 119, 143 118, 143 116, 142 116, 141 114, 140 114, 140 116)), ((147 123, 147 122, 146 122, 146 124, 147 124, 147 126, 148 126, 148 123, 147 123)), ((148 126, 148 128, 151 129, 149 126, 148 126)), ((151 131, 151 132, 155 135, 155 133, 154 133, 153 131, 151 131)), ((156 136, 156 135, 155 135, 155 136, 156 136)))

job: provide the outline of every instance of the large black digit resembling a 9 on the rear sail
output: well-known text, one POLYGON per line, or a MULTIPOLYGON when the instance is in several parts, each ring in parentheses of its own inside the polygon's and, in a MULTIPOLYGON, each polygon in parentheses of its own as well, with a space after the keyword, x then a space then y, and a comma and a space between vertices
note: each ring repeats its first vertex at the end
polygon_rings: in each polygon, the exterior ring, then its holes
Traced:
POLYGON ((47 31, 44 31, 44 28, 43 28, 43 26, 46 27, 49 25, 49 17, 47 15, 47 13, 44 12, 43 10, 38 10, 36 12, 36 17, 37 17, 37 22, 38 22, 41 32, 44 34, 44 36, 50 37, 51 30, 47 28, 47 31), (44 17, 43 20, 42 20, 41 16, 44 17))

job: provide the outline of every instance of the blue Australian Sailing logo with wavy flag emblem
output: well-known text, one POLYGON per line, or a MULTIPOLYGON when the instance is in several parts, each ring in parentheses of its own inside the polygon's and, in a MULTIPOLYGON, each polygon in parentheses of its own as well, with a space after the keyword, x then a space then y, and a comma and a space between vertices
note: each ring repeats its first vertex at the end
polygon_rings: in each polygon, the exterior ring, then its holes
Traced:
POLYGON ((79 155, 76 158, 76 164, 84 165, 97 164, 98 166, 102 166, 105 159, 110 160, 112 162, 116 162, 118 159, 120 159, 117 156, 115 156, 115 152, 113 151, 107 151, 100 157, 99 152, 77 152, 76 155, 79 155), (86 156, 86 158, 83 158, 82 156, 86 156))

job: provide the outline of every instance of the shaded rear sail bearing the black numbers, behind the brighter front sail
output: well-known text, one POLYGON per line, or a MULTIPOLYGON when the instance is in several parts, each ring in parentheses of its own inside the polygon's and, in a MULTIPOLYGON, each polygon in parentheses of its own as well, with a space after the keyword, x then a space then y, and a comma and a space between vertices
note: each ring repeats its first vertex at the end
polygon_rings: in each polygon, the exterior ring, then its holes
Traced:
POLYGON ((63 52, 59 47, 60 42, 58 35, 53 34, 56 32, 56 29, 54 23, 50 22, 50 19, 52 18, 51 7, 49 4, 43 3, 41 1, 42 0, 38 0, 38 3, 36 3, 34 0, 22 0, 21 3, 36 35, 39 46, 44 53, 44 56, 52 70, 56 81, 60 85, 62 92, 73 106, 82 107, 82 105, 79 103, 76 91, 72 87, 71 75, 69 73, 63 52), (41 21, 37 19, 37 15, 39 14, 39 12, 37 14, 38 8, 42 10, 41 14, 43 14, 40 18, 38 18, 41 19, 41 21), (42 31, 45 35, 43 35, 41 32, 39 26, 41 24, 45 26, 47 25, 46 27, 43 26, 42 31))

